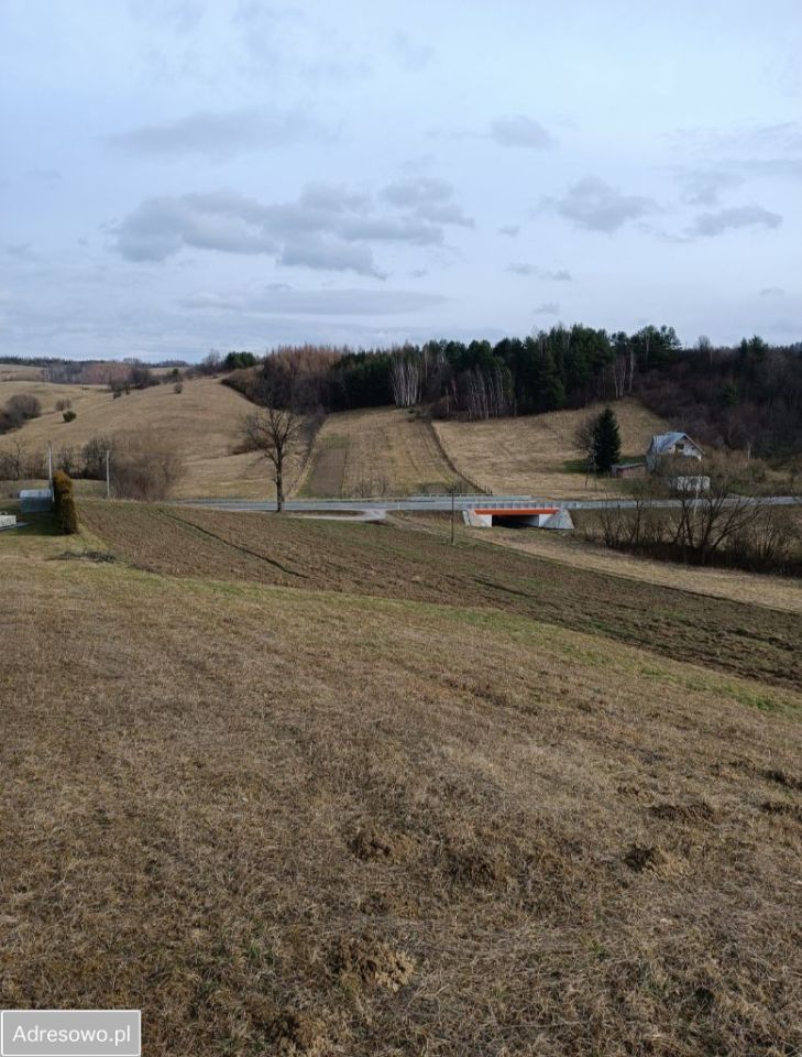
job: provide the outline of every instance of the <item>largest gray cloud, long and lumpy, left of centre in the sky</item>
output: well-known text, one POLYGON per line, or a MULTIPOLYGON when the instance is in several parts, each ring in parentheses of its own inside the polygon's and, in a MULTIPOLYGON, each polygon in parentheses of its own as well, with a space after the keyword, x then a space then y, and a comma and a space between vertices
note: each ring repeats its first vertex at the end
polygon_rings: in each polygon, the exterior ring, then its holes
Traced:
POLYGON ((377 213, 369 195, 327 184, 274 205, 226 190, 164 196, 143 201, 112 233, 118 252, 132 261, 164 261, 194 248, 384 279, 371 243, 440 246, 444 225, 468 224, 451 194, 438 182, 395 185, 383 197, 407 208, 392 216, 377 213))

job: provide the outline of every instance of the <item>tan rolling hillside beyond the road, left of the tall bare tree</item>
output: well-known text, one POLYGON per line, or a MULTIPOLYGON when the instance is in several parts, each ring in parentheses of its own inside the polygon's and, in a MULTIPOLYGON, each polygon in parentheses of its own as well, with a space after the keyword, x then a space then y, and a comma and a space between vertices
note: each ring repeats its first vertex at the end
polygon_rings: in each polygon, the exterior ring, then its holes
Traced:
POLYGON ((241 419, 253 405, 217 379, 186 380, 180 394, 166 384, 133 391, 119 400, 112 400, 108 389, 99 386, 2 382, 0 404, 23 392, 40 399, 44 414, 0 437, 0 448, 19 440, 24 447, 44 449, 52 440, 57 450, 62 445, 81 447, 94 436, 147 431, 167 437, 185 453, 186 475, 177 495, 275 495, 263 460, 231 454, 240 442, 241 419), (65 423, 62 413, 55 411, 56 401, 64 396, 73 401, 78 416, 75 422, 65 423))

